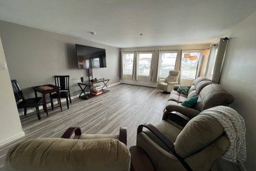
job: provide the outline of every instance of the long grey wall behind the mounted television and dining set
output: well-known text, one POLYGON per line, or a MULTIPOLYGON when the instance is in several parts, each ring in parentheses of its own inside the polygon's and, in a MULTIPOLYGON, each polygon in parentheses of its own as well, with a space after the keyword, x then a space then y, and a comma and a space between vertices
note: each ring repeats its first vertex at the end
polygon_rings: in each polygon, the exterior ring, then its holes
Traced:
POLYGON ((1 20, 0 36, 10 78, 25 98, 35 97, 33 86, 54 84, 56 75, 69 75, 71 96, 80 94, 77 83, 80 77, 88 80, 88 71, 77 67, 75 44, 106 49, 106 68, 93 69, 93 76, 109 78, 109 84, 120 81, 120 48, 1 20))

